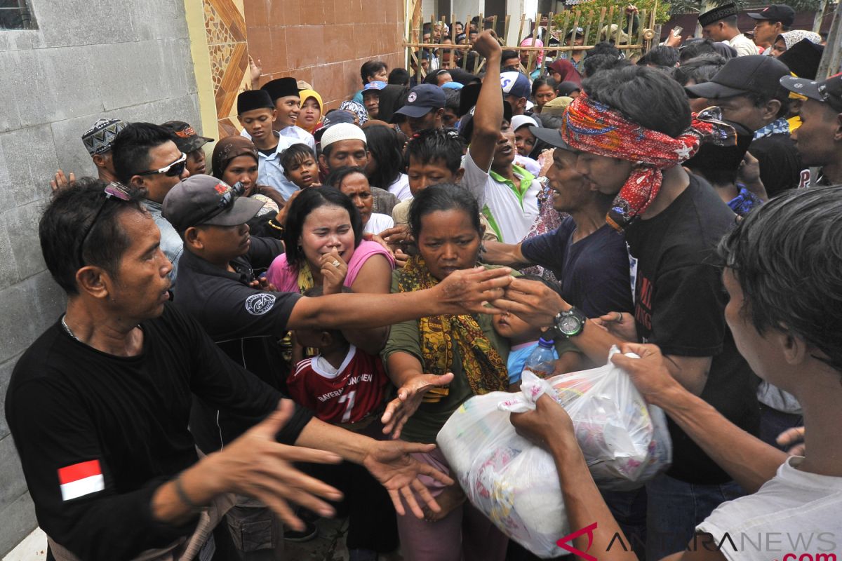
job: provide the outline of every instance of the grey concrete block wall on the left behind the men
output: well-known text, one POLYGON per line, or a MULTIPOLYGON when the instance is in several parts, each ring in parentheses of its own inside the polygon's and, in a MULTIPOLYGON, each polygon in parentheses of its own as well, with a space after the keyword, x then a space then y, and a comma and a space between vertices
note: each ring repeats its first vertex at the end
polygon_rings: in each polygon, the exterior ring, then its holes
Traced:
MULTIPOLYGON (((64 305, 38 220, 56 169, 94 173, 80 135, 100 116, 200 123, 184 4, 31 0, 39 28, 0 31, 0 396, 64 305)), ((0 401, 0 557, 35 528, 0 401)))

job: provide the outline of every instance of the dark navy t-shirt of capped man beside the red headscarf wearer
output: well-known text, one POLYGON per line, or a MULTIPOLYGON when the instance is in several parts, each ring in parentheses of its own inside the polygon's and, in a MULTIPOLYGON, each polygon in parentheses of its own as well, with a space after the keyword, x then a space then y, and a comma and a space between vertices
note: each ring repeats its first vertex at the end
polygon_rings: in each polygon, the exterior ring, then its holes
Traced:
POLYGON ((622 234, 606 224, 573 243, 575 230, 568 216, 556 230, 522 241, 520 251, 530 262, 550 269, 562 285, 564 300, 584 315, 631 312, 629 256, 622 234))

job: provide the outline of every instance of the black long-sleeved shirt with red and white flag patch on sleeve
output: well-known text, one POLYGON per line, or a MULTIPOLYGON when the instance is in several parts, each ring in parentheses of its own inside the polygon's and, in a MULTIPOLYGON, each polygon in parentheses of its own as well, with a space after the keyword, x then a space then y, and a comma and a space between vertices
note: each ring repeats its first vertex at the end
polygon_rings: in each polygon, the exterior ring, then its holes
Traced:
MULTIPOLYGON (((196 462, 191 394, 255 423, 281 397, 170 304, 141 329, 141 354, 115 357, 56 322, 9 382, 6 418, 38 523, 82 559, 133 558, 193 532, 195 521, 165 525, 151 508, 157 487, 196 462)), ((280 442, 295 442, 310 418, 296 410, 280 442)))

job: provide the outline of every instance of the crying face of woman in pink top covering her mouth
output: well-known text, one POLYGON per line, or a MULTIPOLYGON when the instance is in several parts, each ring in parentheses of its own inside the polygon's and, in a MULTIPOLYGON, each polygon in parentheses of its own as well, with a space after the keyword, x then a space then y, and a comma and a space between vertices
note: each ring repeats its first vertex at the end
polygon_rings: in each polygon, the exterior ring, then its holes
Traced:
POLYGON ((313 209, 304 219, 298 244, 312 270, 319 269, 319 259, 336 251, 344 262, 354 255, 354 230, 351 217, 342 207, 330 205, 313 209))

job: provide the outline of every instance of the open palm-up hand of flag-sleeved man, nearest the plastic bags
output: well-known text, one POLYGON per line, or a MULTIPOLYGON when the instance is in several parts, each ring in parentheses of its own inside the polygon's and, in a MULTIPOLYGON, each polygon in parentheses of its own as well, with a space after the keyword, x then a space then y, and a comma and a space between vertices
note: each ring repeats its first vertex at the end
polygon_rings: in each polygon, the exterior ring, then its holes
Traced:
POLYGON ((445 485, 452 485, 453 479, 450 479, 446 474, 442 474, 433 466, 419 462, 410 455, 413 453, 430 453, 434 449, 434 444, 418 444, 399 440, 377 441, 363 458, 365 468, 386 487, 389 496, 392 497, 392 503, 395 505, 397 514, 406 514, 401 500, 402 497, 415 516, 424 518, 424 511, 418 505, 415 494, 418 494, 418 497, 427 505, 429 510, 434 512, 441 510, 433 495, 430 495, 429 490, 418 479, 418 476, 426 475, 445 485))

